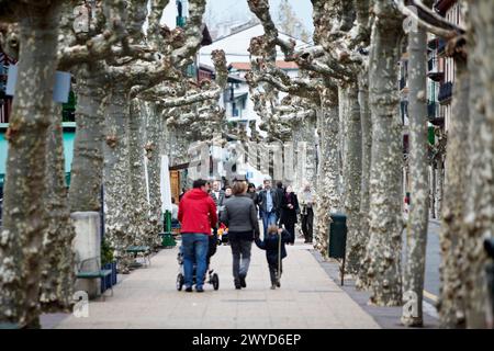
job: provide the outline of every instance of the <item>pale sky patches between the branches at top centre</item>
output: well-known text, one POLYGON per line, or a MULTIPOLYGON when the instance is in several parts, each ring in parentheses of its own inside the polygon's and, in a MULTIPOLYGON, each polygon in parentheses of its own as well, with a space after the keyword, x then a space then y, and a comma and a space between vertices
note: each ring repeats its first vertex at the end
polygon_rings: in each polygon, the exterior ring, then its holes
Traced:
MULTIPOLYGON (((270 12, 274 21, 278 20, 277 10, 282 0, 270 0, 270 12)), ((314 25, 312 22, 312 3, 310 0, 289 0, 293 11, 296 13, 301 22, 305 25, 312 35, 314 25)), ((249 10, 247 0, 207 0, 205 16, 211 16, 214 22, 223 22, 229 19, 245 20, 250 19, 252 13, 249 10)))

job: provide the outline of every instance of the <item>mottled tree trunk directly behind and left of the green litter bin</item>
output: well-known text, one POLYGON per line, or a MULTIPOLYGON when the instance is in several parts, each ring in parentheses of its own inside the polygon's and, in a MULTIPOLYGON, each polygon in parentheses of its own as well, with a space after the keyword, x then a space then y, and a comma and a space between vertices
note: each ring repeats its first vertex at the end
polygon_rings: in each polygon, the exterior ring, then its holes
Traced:
POLYGON ((324 88, 321 92, 322 110, 317 113, 319 136, 319 163, 317 169, 317 192, 315 205, 316 248, 323 257, 328 253, 329 214, 340 210, 338 193, 338 90, 324 88))

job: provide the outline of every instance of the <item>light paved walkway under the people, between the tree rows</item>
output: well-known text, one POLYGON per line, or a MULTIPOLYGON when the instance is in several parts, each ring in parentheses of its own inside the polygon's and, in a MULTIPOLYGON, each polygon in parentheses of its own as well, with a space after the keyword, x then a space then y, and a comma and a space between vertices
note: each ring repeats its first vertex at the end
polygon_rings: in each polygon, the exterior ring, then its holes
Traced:
POLYGON ((379 328, 311 253, 296 242, 283 260, 281 288, 271 291, 265 251, 252 247, 247 288, 234 288, 229 246, 220 246, 211 267, 220 290, 176 290, 178 248, 164 249, 149 268, 124 275, 114 296, 89 303, 89 317, 45 315, 44 328, 379 328), (58 319, 57 319, 58 318, 58 319))

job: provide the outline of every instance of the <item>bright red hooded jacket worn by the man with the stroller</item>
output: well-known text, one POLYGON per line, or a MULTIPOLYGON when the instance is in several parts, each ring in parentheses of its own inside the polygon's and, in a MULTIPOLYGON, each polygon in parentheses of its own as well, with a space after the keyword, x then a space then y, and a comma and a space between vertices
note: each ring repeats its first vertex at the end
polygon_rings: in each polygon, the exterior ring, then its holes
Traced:
POLYGON ((178 219, 180 233, 204 233, 211 235, 216 226, 216 205, 213 199, 201 189, 188 191, 179 203, 178 219))

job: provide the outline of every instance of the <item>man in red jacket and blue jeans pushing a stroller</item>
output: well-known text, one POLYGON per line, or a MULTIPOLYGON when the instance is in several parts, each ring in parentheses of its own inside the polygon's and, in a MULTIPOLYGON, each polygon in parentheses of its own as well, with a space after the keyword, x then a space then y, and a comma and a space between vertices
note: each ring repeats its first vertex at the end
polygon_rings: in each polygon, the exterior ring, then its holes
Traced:
POLYGON ((211 228, 216 226, 216 205, 207 194, 210 184, 202 179, 193 182, 193 189, 188 191, 179 204, 178 218, 181 224, 183 250, 183 270, 186 273, 186 292, 192 291, 193 264, 195 270, 195 291, 202 293, 211 228))

